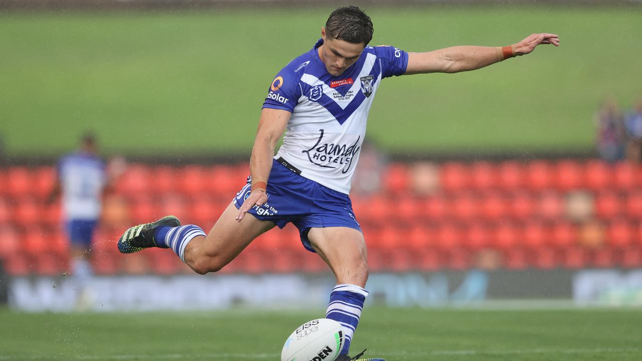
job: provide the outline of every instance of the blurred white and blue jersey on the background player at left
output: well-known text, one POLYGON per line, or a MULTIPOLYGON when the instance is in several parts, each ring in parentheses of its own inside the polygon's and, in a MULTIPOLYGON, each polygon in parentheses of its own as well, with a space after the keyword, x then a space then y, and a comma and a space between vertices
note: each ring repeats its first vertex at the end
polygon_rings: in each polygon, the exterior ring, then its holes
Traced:
POLYGON ((105 163, 96 155, 73 153, 58 164, 62 209, 67 220, 97 220, 105 186, 105 163))

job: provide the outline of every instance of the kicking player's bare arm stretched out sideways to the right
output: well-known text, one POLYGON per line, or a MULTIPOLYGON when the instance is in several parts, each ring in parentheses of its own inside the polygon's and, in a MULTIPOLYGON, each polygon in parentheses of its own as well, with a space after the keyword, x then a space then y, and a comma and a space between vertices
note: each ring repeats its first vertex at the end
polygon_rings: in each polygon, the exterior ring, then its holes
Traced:
POLYGON ((459 73, 480 69, 507 58, 526 55, 540 44, 560 45, 555 34, 532 34, 510 46, 453 46, 451 48, 408 53, 408 67, 404 75, 425 73, 459 73))

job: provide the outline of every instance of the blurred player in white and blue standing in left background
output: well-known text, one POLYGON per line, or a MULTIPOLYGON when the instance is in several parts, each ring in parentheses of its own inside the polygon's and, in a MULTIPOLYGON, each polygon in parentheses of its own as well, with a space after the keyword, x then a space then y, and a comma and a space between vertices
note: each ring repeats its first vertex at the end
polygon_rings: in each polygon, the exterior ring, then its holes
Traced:
POLYGON ((89 261, 92 238, 100 220, 103 193, 110 180, 123 173, 122 162, 121 159, 111 162, 107 172, 105 162, 98 156, 96 137, 89 132, 80 139, 78 150, 58 162, 58 182, 49 199, 53 202, 58 195, 62 198, 77 310, 85 310, 92 303, 93 271, 89 261))

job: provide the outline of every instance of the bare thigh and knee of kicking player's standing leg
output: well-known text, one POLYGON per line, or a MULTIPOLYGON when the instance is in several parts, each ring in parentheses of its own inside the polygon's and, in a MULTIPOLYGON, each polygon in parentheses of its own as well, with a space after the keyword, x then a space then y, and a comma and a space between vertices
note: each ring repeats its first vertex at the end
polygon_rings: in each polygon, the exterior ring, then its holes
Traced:
POLYGON ((349 227, 313 227, 308 240, 330 266, 338 283, 365 286, 368 266, 363 233, 349 227))

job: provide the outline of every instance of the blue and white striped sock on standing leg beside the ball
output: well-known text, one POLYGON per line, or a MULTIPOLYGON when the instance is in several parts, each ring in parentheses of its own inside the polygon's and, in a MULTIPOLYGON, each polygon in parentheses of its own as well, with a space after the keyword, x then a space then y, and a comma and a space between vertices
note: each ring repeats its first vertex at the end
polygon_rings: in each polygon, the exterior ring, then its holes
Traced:
POLYGON ((368 297, 368 291, 357 285, 336 285, 330 294, 325 318, 337 321, 343 326, 345 344, 340 355, 347 355, 350 349, 365 297, 368 297))

